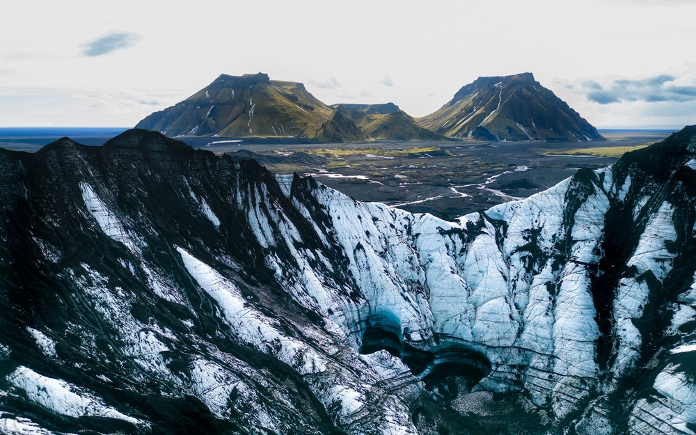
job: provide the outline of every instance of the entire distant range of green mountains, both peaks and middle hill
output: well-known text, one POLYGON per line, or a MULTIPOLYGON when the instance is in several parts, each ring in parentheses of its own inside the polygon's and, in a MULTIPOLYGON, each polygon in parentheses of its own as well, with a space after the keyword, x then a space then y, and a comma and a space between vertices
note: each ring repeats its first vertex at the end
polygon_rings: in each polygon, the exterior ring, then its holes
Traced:
POLYGON ((604 140, 528 72, 479 77, 441 109, 418 119, 393 103, 327 106, 303 84, 270 80, 267 74, 221 74, 187 100, 147 116, 136 128, 174 137, 293 136, 333 143, 604 140))

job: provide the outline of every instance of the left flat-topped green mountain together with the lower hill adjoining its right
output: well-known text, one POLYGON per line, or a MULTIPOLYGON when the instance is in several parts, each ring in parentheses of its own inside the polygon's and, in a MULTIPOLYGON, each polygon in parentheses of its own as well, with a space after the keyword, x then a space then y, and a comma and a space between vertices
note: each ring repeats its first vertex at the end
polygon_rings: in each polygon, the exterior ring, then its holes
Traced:
POLYGON ((267 74, 222 74, 136 128, 178 136, 306 137, 320 142, 443 141, 393 103, 327 106, 303 84, 267 74), (338 108, 341 108, 338 110, 338 108))

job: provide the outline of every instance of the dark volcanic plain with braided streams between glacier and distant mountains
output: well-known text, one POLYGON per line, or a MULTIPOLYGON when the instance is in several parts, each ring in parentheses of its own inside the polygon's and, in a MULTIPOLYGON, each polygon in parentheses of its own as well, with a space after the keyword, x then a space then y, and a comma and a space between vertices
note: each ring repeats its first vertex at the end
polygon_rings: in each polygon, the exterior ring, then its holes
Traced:
MULTIPOLYGON (((454 219, 498 203, 526 198, 573 175, 579 168, 609 166, 631 147, 661 141, 671 132, 607 130, 600 133, 609 140, 333 144, 293 138, 177 139, 194 148, 216 154, 228 152, 237 158, 248 156, 242 150, 251 151, 260 155, 261 163, 274 173, 312 175, 356 200, 378 201, 409 212, 429 212, 454 219)), ((0 146, 32 152, 59 137, 3 136, 0 132, 0 146)), ((86 145, 101 145, 110 135, 78 134, 71 139, 86 145)))

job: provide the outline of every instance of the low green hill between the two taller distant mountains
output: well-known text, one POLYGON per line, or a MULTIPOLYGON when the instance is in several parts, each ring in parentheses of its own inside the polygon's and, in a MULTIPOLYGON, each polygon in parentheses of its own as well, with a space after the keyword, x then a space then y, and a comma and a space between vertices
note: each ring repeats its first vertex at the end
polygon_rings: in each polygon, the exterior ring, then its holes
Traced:
POLYGON ((393 103, 335 104, 367 137, 374 140, 448 141, 451 140, 429 129, 420 127, 406 112, 393 103))

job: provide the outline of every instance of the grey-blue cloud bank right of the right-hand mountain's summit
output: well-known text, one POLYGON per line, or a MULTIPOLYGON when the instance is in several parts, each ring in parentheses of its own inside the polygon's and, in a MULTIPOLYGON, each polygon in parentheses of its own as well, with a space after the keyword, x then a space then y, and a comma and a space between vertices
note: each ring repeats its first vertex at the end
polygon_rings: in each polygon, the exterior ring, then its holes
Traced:
POLYGON ((599 104, 619 102, 687 102, 696 100, 696 86, 677 84, 683 82, 670 74, 659 74, 640 80, 619 79, 602 85, 598 81, 587 80, 580 84, 580 92, 587 100, 599 104))

